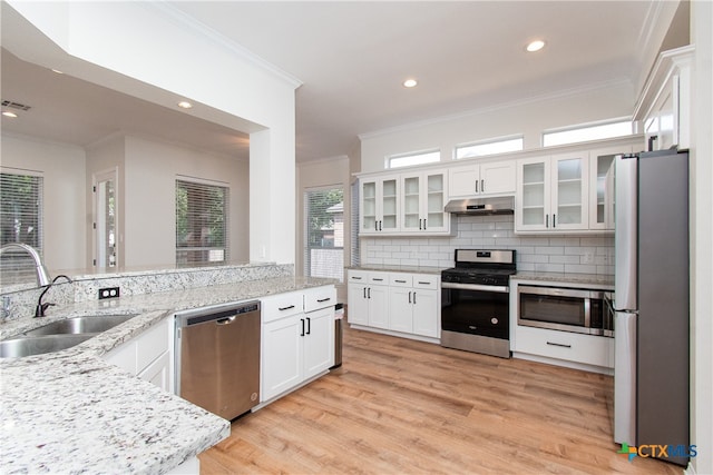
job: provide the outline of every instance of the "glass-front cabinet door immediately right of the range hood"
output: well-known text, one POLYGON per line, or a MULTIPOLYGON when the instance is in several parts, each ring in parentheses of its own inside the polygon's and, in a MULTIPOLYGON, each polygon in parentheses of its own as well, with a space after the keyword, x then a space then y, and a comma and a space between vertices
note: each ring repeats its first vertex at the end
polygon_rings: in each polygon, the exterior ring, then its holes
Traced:
POLYGON ((549 159, 531 158, 518 161, 516 202, 517 230, 535 231, 549 227, 549 159))

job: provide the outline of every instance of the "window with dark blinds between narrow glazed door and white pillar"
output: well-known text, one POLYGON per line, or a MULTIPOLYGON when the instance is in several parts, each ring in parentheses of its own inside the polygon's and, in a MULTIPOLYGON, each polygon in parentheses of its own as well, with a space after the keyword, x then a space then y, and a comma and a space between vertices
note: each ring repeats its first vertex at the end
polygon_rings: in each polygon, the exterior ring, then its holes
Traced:
POLYGON ((176 265, 227 261, 228 188, 176 180, 176 265))

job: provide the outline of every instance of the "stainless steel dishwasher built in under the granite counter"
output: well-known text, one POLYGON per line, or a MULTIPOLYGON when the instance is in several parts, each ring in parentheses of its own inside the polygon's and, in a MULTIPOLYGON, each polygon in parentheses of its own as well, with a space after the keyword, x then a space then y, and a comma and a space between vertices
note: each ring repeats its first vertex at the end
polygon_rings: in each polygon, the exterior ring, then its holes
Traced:
POLYGON ((176 314, 176 394, 228 420, 260 402, 260 301, 176 314))

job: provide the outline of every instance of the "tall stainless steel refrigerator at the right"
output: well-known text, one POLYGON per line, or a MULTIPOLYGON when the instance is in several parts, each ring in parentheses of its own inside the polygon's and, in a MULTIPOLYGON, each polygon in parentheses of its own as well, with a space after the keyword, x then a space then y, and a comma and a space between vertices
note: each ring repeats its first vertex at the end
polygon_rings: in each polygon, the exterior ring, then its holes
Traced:
POLYGON ((675 447, 652 455, 685 466, 688 155, 617 156, 614 166, 614 441, 675 447))

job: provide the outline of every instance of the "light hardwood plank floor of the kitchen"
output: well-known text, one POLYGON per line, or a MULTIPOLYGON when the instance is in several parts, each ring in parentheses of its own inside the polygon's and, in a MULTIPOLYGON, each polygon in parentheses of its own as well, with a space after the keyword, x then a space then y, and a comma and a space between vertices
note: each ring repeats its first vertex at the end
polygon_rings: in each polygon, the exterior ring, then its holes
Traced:
POLYGON ((248 414, 202 474, 681 474, 617 454, 612 377, 345 328, 343 365, 248 414))

